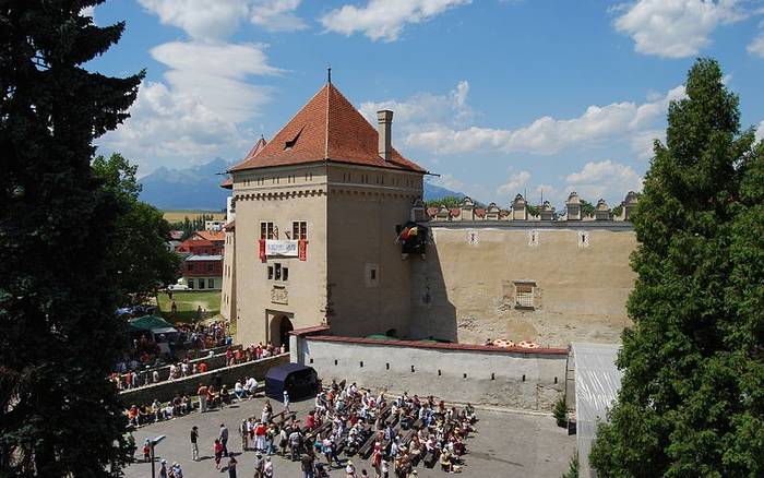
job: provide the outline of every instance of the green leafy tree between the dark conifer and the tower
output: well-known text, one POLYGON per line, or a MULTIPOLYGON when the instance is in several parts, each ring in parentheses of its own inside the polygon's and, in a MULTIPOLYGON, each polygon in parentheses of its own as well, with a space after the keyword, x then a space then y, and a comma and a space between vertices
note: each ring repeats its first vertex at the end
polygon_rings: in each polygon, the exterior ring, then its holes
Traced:
POLYGON ((139 201, 138 166, 122 155, 114 153, 108 159, 96 156, 93 171, 102 180, 102 188, 119 202, 121 213, 108 254, 111 274, 117 278, 119 303, 143 303, 178 276, 180 261, 167 249, 170 226, 159 210, 139 201))

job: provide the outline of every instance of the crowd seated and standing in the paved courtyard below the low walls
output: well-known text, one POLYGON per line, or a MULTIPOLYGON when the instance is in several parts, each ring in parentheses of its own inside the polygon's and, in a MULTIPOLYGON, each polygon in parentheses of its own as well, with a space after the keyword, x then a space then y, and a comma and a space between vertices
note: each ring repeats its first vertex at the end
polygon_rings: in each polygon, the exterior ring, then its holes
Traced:
MULTIPOLYGON (((258 383, 253 378, 237 381, 234 393, 227 393, 226 385, 218 389, 201 385, 200 389, 200 409, 204 411, 234 401, 251 399, 258 383)), ((143 409, 131 407, 129 418, 132 425, 169 419, 192 411, 190 405, 191 399, 186 396, 165 406, 155 401, 143 409)), ((469 404, 457 409, 432 396, 422 398, 408 393, 389 399, 384 393, 372 394, 370 390, 345 381, 332 381, 330 386, 322 387, 313 407, 301 418, 289 411, 286 392, 279 408, 279 413, 274 413, 271 401, 266 399, 259 414, 241 420, 238 430, 229 431, 220 423, 219 430, 206 439, 212 442, 216 469, 228 471, 231 478, 237 476, 238 463, 228 453, 228 443, 229 434, 238 432, 241 450, 255 454, 254 478, 274 476, 273 456, 298 462, 303 478, 325 478, 333 468, 342 469, 347 478, 372 475, 375 478, 411 478, 417 476, 416 467, 420 464, 459 473, 466 453, 465 441, 477 422, 469 404), (359 469, 354 462, 360 465, 367 459, 370 461, 369 470, 359 469)), ((201 439, 196 426, 191 428, 190 443, 191 457, 199 461, 201 439)), ((168 477, 182 477, 180 465, 166 469, 168 477)))

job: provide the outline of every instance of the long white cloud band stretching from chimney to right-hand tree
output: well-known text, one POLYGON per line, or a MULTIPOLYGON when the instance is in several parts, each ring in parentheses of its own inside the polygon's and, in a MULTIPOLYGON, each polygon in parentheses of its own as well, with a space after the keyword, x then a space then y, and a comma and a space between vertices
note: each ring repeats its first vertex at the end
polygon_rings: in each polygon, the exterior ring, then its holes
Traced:
MULTIPOLYGON (((636 104, 612 103, 589 106, 583 115, 571 119, 542 117, 515 130, 469 127, 457 129, 450 124, 423 122, 406 136, 406 143, 437 154, 459 154, 476 151, 533 153, 551 155, 572 145, 625 138, 644 140, 645 130, 665 113, 672 99, 682 98, 684 87, 678 86, 659 99, 636 104), (640 138, 642 134, 642 138, 640 138)), ((405 103, 408 105, 408 103, 405 103)))

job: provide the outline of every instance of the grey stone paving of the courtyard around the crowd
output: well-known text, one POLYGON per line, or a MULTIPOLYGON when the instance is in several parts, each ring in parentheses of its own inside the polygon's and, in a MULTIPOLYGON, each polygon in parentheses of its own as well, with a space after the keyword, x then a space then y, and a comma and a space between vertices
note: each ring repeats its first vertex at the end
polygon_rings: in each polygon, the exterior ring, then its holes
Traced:
MULTIPOLYGON (((215 469, 212 444, 217 438, 220 423, 226 423, 229 429, 228 450, 236 455, 239 462, 237 466, 238 477, 250 478, 253 475, 252 463, 254 452, 248 451, 241 454, 241 440, 238 426, 249 416, 260 416, 265 398, 254 398, 225 407, 223 410, 207 411, 205 414, 193 413, 189 416, 160 421, 140 428, 133 434, 139 446, 136 451, 138 463, 126 469, 127 478, 151 477, 151 464, 142 462, 142 446, 146 438, 160 434, 167 438, 156 446, 156 470, 158 476, 159 459, 165 458, 168 465, 178 462, 183 469, 184 478, 202 477, 228 477, 227 473, 215 469), (191 461, 191 445, 189 433, 192 426, 199 427, 200 432, 200 462, 191 461)), ((274 411, 283 408, 279 403, 274 403, 274 411)), ((308 409, 313 406, 313 401, 305 401, 291 404, 293 411, 297 411, 298 418, 305 417, 308 409)), ((477 432, 467 439, 467 454, 464 455, 465 466, 461 476, 467 477, 559 477, 566 469, 575 451, 575 437, 569 437, 565 429, 558 428, 551 416, 525 415, 497 410, 477 410, 480 419, 476 427, 477 432)), ((353 458, 360 470, 366 468, 369 476, 373 477, 373 470, 368 462, 359 463, 353 458)), ((274 477, 302 477, 300 464, 293 463, 282 456, 272 457, 274 464, 274 477)), ((227 458, 223 458, 224 465, 227 458)), ((438 466, 432 469, 419 464, 418 476, 421 478, 444 477, 447 474, 441 471, 438 466)), ((344 469, 333 469, 332 477, 345 477, 344 469)), ((391 467, 391 476, 392 467, 391 467)))

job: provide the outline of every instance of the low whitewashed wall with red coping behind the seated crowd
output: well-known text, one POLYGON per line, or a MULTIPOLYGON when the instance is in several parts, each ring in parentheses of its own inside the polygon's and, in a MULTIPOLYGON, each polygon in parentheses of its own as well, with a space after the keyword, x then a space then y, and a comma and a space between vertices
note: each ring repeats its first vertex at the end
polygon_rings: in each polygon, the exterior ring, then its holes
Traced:
POLYGON ((345 379, 373 391, 548 413, 565 383, 566 349, 295 338, 293 360, 313 367, 324 384, 345 379))

